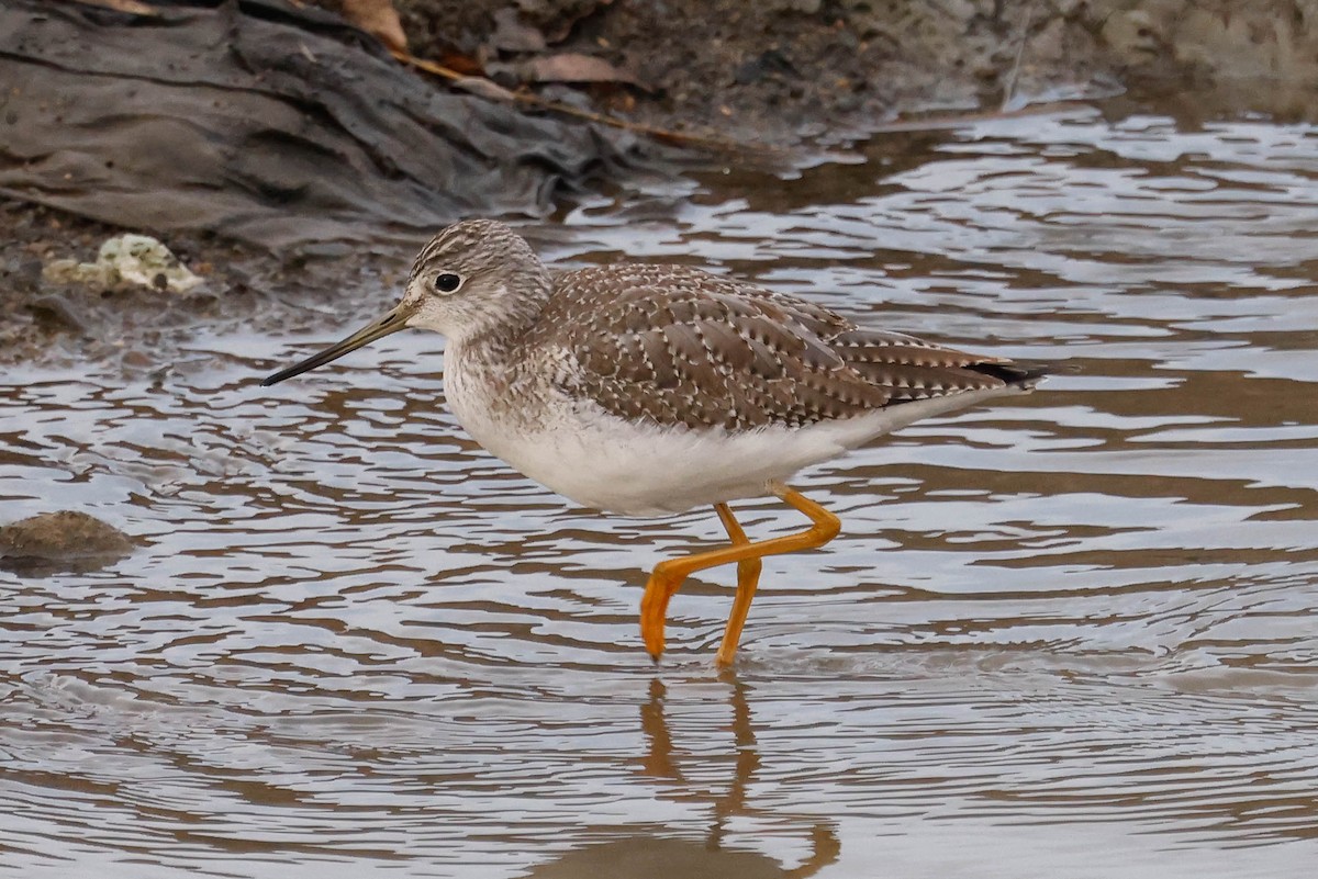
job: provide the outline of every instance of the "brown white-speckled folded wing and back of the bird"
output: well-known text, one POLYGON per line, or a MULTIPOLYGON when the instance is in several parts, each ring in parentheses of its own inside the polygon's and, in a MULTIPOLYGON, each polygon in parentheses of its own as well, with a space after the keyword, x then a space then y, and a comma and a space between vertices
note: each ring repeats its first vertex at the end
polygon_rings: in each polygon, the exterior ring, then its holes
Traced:
POLYGON ((536 332, 577 364, 560 382, 568 393, 695 429, 800 426, 1035 378, 681 266, 564 272, 536 332))

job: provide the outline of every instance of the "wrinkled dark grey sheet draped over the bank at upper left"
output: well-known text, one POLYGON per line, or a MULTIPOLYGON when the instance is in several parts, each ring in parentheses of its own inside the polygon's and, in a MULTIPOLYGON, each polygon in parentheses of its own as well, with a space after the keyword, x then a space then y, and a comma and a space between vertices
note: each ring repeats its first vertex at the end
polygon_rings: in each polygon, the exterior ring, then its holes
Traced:
POLYGON ((314 8, 154 9, 0 0, 0 193, 268 247, 415 238, 543 212, 629 137, 438 91, 314 8))

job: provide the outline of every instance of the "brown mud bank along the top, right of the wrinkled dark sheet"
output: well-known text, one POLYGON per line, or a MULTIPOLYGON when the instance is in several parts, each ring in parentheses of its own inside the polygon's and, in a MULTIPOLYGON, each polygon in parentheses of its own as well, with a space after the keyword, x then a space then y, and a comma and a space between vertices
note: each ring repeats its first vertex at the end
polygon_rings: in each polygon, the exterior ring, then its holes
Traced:
POLYGON ((395 5, 416 55, 629 121, 743 142, 840 142, 899 113, 1244 79, 1268 84, 1242 93, 1240 108, 1273 112, 1278 91, 1318 82, 1311 0, 395 5))

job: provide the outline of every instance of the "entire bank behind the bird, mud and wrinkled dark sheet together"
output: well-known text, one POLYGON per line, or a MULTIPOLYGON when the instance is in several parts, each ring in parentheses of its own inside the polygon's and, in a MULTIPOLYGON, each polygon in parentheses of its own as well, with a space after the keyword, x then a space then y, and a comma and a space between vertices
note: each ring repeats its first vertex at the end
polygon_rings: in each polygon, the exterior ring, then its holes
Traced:
POLYGON ((200 322, 295 325, 308 317, 287 299, 378 296, 459 217, 548 216, 687 159, 741 163, 735 143, 789 166, 902 112, 1122 83, 1228 83, 1213 112, 1309 117, 1318 78, 1298 0, 398 0, 409 51, 456 80, 323 5, 0 0, 0 363, 167 368, 200 322), (1275 87, 1240 86, 1261 75, 1275 87), (46 271, 124 229, 158 237, 202 284, 46 271))

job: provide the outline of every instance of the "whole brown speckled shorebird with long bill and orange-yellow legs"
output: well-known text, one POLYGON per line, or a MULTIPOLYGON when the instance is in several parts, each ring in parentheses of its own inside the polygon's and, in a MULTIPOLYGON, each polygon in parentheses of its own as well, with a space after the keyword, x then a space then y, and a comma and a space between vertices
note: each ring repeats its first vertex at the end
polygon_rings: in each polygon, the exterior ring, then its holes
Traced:
POLYGON ((687 576, 737 565, 717 654, 728 665, 760 559, 838 534, 837 516, 787 486, 797 471, 919 418, 1031 391, 1045 375, 684 266, 552 272, 505 224, 468 220, 422 249, 394 308, 262 384, 407 328, 447 337, 453 414, 531 479, 626 516, 713 505, 731 543, 664 559, 646 583, 641 633, 655 661, 687 576), (768 495, 809 528, 749 540, 728 504, 768 495))

